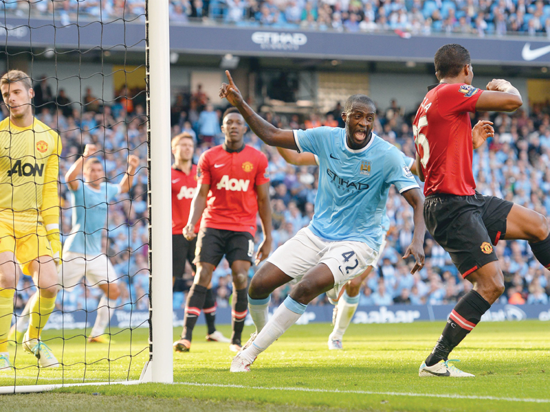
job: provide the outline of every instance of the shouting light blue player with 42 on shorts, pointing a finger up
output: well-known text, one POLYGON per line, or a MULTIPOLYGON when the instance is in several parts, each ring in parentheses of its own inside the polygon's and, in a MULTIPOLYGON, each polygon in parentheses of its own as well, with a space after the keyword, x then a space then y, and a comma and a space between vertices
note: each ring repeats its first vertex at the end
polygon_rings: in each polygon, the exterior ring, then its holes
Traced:
POLYGON ((250 371, 250 365, 305 312, 321 293, 338 299, 350 279, 371 266, 382 243, 382 217, 391 185, 415 209, 415 233, 405 258, 423 266, 426 226, 423 195, 395 146, 373 134, 374 102, 366 95, 351 96, 344 107, 345 128, 320 127, 281 130, 256 114, 236 88, 230 73, 220 97, 239 109, 258 137, 270 146, 311 152, 319 159, 319 190, 314 218, 308 227, 279 247, 252 278, 248 291, 256 332, 232 361, 230 371, 250 371), (290 295, 267 321, 270 293, 295 282, 290 295))

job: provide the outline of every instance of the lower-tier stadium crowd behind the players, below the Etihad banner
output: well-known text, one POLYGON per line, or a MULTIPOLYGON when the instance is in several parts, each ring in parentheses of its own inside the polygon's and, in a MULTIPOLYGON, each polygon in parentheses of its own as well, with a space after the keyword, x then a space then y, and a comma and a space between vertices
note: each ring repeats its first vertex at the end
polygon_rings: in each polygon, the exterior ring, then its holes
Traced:
MULTIPOLYGON (((107 179, 118 183, 126 170, 126 157, 131 153, 142 159, 140 171, 129 194, 121 196, 109 206, 109 223, 104 236, 104 249, 120 279, 122 290, 118 306, 123 309, 148 308, 148 262, 146 227, 146 117, 144 93, 123 89, 111 106, 103 106, 87 90, 83 104, 74 102, 63 91, 52 96, 45 82, 35 84, 35 104, 41 107, 36 117, 59 130, 63 142, 60 163, 61 181, 65 172, 76 161, 85 144, 101 148, 98 157, 104 164, 107 179), (55 104, 57 103, 57 104, 55 104)), ((5 108, 4 115, 5 113, 5 108)), ((342 107, 336 104, 333 111, 324 115, 276 115, 263 113, 265 119, 281 128, 311 128, 343 126, 342 107)), ((393 100, 385 111, 379 111, 375 133, 414 157, 411 123, 416 107, 402 108, 393 100)), ((208 96, 199 87, 193 93, 179 94, 171 107, 172 133, 190 133, 196 143, 194 163, 202 152, 221 144, 222 108, 214 108, 208 96)), ((519 110, 513 114, 480 113, 472 117, 491 119, 495 136, 474 151, 474 176, 477 190, 525 205, 544 216, 550 214, 550 103, 534 105, 530 113, 519 110)), ((247 144, 267 155, 271 179, 274 249, 309 224, 314 213, 314 199, 318 184, 318 168, 289 165, 277 150, 261 143, 250 131, 247 144)), ((67 185, 61 185, 63 233, 70 233, 72 210, 67 185)), ((395 190, 391 190, 387 213, 391 220, 388 244, 380 266, 366 279, 360 293, 361 305, 452 304, 469 288, 470 282, 461 279, 450 261, 450 256, 427 234, 426 266, 410 275, 412 262, 401 259, 412 238, 412 209, 395 190)), ((259 225, 259 228, 261 225, 259 225)), ((256 247, 262 233, 256 235, 256 247)), ((506 291, 501 303, 547 304, 550 296, 550 271, 533 258, 527 242, 500 240, 496 246, 500 265, 505 274, 506 291)), ((254 273, 251 268, 250 276, 254 273)), ((18 286, 17 307, 24 306, 34 293, 32 281, 22 277, 18 286)), ((192 283, 190 268, 184 277, 183 289, 192 283)), ((223 260, 214 271, 213 287, 220 307, 229 306, 232 293, 228 262, 223 260)), ((276 290, 272 305, 277 306, 289 293, 289 286, 276 290)), ((64 310, 95 308, 100 290, 78 286, 58 296, 64 310)), ((312 304, 327 304, 322 295, 312 304)), ((185 293, 174 295, 174 308, 184 308, 185 293)))

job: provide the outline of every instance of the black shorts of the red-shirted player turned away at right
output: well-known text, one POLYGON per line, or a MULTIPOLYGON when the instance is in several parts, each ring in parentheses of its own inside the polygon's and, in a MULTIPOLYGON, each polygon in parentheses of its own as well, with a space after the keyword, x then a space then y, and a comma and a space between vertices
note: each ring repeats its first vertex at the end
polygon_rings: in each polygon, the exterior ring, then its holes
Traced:
POLYGON ((424 202, 426 228, 463 277, 498 260, 493 246, 506 233, 514 203, 494 196, 434 194, 424 202))

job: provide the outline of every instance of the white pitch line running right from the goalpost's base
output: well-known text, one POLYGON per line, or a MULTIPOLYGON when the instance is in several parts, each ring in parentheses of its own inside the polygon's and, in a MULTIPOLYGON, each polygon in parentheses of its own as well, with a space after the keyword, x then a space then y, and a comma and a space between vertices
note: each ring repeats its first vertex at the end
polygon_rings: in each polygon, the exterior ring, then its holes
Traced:
POLYGON ((428 397, 428 398, 448 398, 448 399, 504 400, 507 402, 550 403, 550 399, 498 398, 497 396, 454 395, 450 393, 340 391, 338 389, 315 389, 315 388, 293 388, 293 387, 248 387, 245 385, 222 385, 217 383, 198 383, 198 382, 174 382, 174 385, 186 385, 186 386, 195 386, 195 387, 235 388, 235 389, 258 389, 263 391, 296 391, 296 392, 318 392, 318 393, 340 393, 340 394, 353 393, 358 395, 416 396, 419 398, 428 397))

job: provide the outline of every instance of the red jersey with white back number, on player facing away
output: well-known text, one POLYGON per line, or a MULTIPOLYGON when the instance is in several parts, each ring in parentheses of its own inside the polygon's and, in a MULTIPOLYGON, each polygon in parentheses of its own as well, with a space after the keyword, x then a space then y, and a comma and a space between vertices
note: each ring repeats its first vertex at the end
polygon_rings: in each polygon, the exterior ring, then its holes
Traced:
POLYGON ((440 83, 420 105, 412 133, 426 179, 424 194, 467 196, 475 193, 472 172, 472 122, 483 93, 468 84, 440 83))

